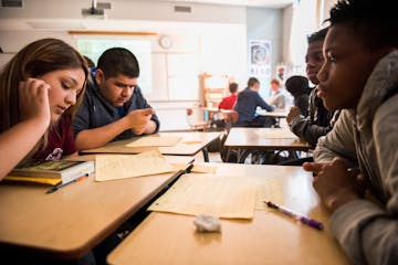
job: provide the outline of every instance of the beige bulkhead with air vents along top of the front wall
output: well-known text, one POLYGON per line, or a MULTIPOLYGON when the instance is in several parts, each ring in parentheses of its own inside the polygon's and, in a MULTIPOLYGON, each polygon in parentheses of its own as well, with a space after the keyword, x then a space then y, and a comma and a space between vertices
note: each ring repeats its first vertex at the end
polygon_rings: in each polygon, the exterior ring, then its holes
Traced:
MULTIPOLYGON (((111 2, 107 20, 150 20, 176 22, 244 23, 242 6, 170 3, 145 0, 104 0, 111 2), (191 7, 191 13, 174 12, 175 6, 191 7)), ((0 18, 14 19, 82 19, 81 9, 90 8, 92 0, 25 0, 22 9, 0 8, 0 18)))

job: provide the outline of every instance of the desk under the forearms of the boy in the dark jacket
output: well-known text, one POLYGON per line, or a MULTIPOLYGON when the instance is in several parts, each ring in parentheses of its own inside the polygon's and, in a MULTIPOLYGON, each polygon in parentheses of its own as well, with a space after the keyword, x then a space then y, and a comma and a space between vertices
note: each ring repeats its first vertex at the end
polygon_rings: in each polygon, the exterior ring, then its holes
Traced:
POLYGON ((187 131, 187 132, 158 132, 156 135, 148 135, 142 137, 150 136, 177 136, 182 137, 182 139, 171 147, 126 147, 132 139, 113 141, 107 144, 104 147, 93 148, 87 150, 82 150, 81 155, 87 153, 140 153, 144 151, 158 149, 163 155, 168 156, 195 156, 199 151, 203 152, 205 161, 209 161, 209 153, 207 146, 220 137, 221 131, 212 132, 202 132, 202 131, 187 131))

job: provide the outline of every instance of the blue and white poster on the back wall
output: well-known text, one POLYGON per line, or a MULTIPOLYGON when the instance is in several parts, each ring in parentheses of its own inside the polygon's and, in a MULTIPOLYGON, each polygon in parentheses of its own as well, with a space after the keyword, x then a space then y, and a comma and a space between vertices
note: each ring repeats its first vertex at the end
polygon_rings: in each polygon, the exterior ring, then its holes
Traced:
POLYGON ((271 41, 249 41, 249 74, 258 77, 271 77, 271 41))

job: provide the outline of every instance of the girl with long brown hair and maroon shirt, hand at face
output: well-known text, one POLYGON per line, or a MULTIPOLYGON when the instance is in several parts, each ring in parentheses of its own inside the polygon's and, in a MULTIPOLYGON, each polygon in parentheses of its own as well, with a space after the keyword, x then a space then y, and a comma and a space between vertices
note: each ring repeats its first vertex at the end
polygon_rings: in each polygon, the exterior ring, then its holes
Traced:
POLYGON ((30 43, 0 73, 0 179, 24 158, 76 152, 72 117, 88 76, 86 62, 56 39, 30 43))

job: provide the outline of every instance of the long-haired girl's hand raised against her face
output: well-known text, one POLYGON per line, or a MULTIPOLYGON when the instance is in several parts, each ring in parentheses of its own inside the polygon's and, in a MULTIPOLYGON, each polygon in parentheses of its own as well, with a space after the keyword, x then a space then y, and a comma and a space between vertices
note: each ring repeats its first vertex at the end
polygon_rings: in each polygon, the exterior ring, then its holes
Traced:
POLYGON ((50 85, 42 80, 28 78, 19 84, 19 107, 22 120, 40 119, 50 124, 50 85))

